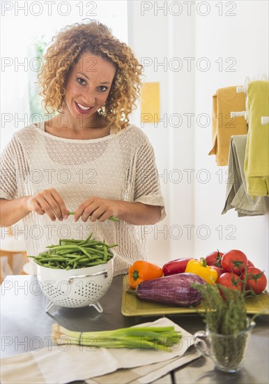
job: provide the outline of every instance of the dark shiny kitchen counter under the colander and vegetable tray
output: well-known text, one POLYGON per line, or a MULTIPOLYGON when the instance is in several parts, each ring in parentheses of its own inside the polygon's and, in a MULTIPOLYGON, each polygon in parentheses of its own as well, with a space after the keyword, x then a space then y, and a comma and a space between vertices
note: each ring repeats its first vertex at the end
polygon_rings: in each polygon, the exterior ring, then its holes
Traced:
MULTIPOLYGON (((1 284, 1 357, 48 348, 52 345, 50 337, 53 323, 59 323, 70 330, 100 331, 130 327, 160 317, 123 316, 122 285, 123 276, 113 279, 109 291, 100 300, 104 310, 102 313, 98 313, 93 307, 69 309, 56 305, 46 313, 45 307, 49 300, 40 292, 36 276, 7 276, 1 284)), ((192 334, 205 328, 203 319, 197 314, 167 317, 192 334)), ((155 383, 269 383, 268 320, 269 316, 256 318, 245 366, 238 374, 217 371, 210 359, 199 357, 155 383)))

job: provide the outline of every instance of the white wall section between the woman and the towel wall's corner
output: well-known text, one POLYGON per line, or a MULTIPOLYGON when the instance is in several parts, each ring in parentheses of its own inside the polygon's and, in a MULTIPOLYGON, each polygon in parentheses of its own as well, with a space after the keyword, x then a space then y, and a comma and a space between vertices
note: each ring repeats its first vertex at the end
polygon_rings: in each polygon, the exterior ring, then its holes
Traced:
MULTIPOLYGON (((185 15, 180 23, 174 23, 162 11, 156 15, 153 8, 147 11, 148 5, 151 6, 148 1, 128 2, 128 43, 145 64, 144 81, 160 82, 160 120, 163 121, 155 126, 144 124, 143 129, 155 149, 167 207, 167 218, 146 228, 149 259, 162 265, 171 258, 190 256, 194 251, 194 242, 187 239, 187 228, 183 227, 192 224, 194 217, 194 189, 187 182, 187 171, 183 171, 194 168, 194 132, 185 124, 179 126, 178 118, 178 114, 183 117, 183 113, 194 111, 194 77, 187 71, 174 73, 170 69, 177 68, 173 58, 178 52, 181 57, 183 52, 186 57, 194 55, 194 20, 185 15), (183 180, 179 182, 181 175, 183 180)), ((139 108, 133 113, 132 121, 141 126, 139 108)))

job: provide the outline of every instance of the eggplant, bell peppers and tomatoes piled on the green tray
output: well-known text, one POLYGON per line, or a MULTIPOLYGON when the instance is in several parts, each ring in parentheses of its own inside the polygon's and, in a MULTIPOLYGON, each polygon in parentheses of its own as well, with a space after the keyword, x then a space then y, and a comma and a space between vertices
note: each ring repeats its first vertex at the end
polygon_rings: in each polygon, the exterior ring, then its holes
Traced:
MULTIPOLYGON (((129 268, 129 286, 141 300, 189 307, 201 302, 201 292, 193 283, 217 285, 223 299, 227 292, 233 297, 238 291, 247 295, 258 295, 266 289, 267 279, 261 269, 247 260, 242 251, 233 249, 222 253, 214 251, 205 258, 179 258, 162 268, 139 260, 129 268), (195 281, 194 276, 200 281, 195 281)), ((197 286, 198 287, 198 286, 197 286)))

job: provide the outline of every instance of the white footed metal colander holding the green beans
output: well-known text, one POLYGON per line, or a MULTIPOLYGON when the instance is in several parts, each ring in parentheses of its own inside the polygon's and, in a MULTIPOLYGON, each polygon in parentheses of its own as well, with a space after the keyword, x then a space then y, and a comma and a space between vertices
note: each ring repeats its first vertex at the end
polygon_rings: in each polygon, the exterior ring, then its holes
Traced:
POLYGON ((54 269, 36 265, 37 279, 43 293, 51 300, 45 311, 53 304, 78 308, 93 306, 98 312, 102 307, 98 300, 111 286, 114 272, 114 257, 106 264, 79 269, 54 269))

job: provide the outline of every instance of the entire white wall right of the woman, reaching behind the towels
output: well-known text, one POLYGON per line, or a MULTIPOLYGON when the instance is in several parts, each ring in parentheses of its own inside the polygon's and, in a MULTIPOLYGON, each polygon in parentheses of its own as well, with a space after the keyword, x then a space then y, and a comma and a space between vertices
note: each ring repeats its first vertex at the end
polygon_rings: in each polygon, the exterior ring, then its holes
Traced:
MULTIPOLYGON (((167 226, 167 239, 157 229, 148 235, 150 260, 162 265, 178 257, 206 256, 217 248, 240 249, 268 275, 268 215, 221 215, 227 168, 217 167, 215 156, 208 156, 215 90, 243 84, 247 75, 255 80, 268 73, 268 2, 129 1, 128 22, 128 41, 139 59, 150 58, 153 64, 167 59, 166 68, 152 64, 144 71, 145 81, 160 82, 161 117, 168 114, 166 128, 162 121, 144 127, 160 174, 168 175, 167 182, 160 177, 167 219, 155 226, 167 226), (175 71, 175 58, 183 64, 180 71, 175 71), (210 68, 203 71, 208 62, 210 68), (169 124, 175 113, 183 120, 178 127, 176 119, 169 124), (190 113, 195 114, 191 122, 190 113), (176 175, 182 175, 180 182, 176 175), (176 228, 182 231, 179 239, 176 228)), ((140 125, 139 110, 133 119, 140 125)))

